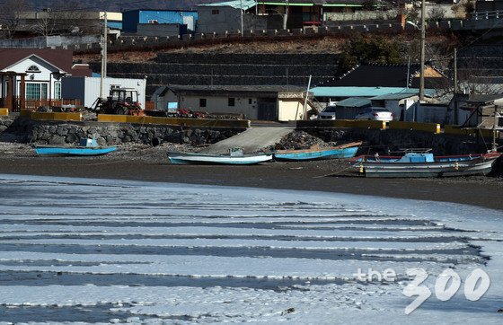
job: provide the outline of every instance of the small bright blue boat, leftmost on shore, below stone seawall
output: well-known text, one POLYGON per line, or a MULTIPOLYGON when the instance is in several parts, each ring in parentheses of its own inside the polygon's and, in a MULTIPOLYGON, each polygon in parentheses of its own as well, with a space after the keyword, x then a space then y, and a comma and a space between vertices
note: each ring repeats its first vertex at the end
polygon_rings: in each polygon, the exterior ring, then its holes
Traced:
POLYGON ((115 146, 99 146, 95 139, 80 139, 77 146, 36 145, 35 153, 43 156, 91 156, 109 154, 117 150, 115 146))

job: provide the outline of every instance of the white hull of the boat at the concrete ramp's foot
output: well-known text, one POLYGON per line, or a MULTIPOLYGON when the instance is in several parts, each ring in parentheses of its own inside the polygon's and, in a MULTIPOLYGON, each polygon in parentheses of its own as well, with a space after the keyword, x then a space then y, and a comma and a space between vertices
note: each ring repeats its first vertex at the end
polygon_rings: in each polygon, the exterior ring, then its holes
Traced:
POLYGON ((244 154, 243 156, 230 156, 168 152, 168 159, 172 164, 249 165, 269 162, 272 160, 272 154, 244 154))

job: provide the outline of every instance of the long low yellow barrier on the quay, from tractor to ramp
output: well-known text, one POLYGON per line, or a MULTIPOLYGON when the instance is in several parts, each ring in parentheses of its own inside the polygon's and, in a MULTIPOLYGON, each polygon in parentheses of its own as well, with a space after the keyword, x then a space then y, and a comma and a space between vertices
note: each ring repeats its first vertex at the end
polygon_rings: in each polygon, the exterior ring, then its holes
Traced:
POLYGON ((98 114, 98 122, 160 124, 181 127, 250 127, 248 119, 181 119, 113 114, 98 114))

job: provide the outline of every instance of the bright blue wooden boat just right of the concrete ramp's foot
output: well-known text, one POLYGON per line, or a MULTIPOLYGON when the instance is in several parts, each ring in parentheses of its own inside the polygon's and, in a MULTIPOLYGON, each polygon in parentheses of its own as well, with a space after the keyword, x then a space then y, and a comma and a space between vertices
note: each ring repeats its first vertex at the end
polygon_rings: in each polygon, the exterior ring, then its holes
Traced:
POLYGON ((304 150, 278 150, 274 159, 280 162, 299 162, 319 159, 352 158, 357 154, 361 141, 328 148, 312 147, 304 150))

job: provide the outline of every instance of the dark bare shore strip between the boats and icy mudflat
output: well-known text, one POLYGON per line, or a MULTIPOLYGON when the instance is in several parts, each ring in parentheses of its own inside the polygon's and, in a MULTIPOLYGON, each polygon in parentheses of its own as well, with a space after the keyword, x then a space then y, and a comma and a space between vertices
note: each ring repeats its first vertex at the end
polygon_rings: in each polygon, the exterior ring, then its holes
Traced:
POLYGON ((503 210, 503 179, 366 179, 350 172, 347 161, 264 163, 255 166, 171 165, 166 150, 181 145, 124 145, 91 158, 38 157, 29 145, 0 144, 0 173, 146 180, 269 189, 302 189, 390 198, 414 198, 503 210), (323 175, 332 174, 323 177, 323 175))

